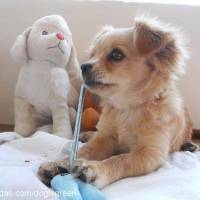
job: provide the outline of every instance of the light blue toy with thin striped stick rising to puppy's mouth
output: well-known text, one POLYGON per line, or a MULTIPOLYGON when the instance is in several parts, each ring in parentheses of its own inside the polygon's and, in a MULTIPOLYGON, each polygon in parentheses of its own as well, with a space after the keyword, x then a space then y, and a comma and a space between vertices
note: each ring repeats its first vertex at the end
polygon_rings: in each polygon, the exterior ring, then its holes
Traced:
MULTIPOLYGON (((72 168, 73 162, 77 156, 84 96, 85 87, 84 85, 81 85, 76 122, 74 127, 72 150, 70 155, 70 169, 72 168)), ((51 180, 51 187, 59 194, 60 200, 106 200, 105 195, 96 187, 82 182, 70 174, 55 176, 51 180)))

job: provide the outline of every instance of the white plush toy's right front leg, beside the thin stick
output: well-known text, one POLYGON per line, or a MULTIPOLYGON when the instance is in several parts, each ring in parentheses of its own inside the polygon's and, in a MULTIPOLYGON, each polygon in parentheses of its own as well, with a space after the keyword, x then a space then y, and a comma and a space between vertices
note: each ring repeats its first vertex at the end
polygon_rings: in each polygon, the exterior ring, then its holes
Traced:
POLYGON ((60 102, 52 108, 53 133, 56 135, 72 138, 69 108, 67 102, 60 102))

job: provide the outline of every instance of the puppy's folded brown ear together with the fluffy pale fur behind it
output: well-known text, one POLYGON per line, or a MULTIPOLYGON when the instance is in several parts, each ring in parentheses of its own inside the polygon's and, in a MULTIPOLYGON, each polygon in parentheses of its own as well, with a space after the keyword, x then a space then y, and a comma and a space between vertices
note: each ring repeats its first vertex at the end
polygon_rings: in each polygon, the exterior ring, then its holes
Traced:
POLYGON ((160 66, 160 70, 176 76, 184 73, 188 53, 185 37, 179 29, 151 18, 137 19, 133 36, 134 46, 139 55, 146 57, 147 64, 160 66))

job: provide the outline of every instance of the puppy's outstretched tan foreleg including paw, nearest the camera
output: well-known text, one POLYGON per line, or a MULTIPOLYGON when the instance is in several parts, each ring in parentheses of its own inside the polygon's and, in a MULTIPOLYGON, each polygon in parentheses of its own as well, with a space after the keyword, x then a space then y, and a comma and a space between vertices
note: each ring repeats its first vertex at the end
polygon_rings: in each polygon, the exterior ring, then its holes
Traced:
POLYGON ((112 156, 104 161, 77 160, 73 173, 98 188, 121 178, 141 176, 159 168, 166 149, 141 147, 135 152, 112 156))

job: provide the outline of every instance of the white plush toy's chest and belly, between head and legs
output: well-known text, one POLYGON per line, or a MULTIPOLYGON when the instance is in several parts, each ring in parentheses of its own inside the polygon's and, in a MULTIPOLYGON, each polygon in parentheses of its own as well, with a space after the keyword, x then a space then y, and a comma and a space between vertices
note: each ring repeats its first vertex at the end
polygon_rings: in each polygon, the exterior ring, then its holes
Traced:
POLYGON ((64 68, 30 61, 21 68, 15 94, 30 102, 38 112, 50 116, 55 97, 67 101, 69 85, 64 68))

